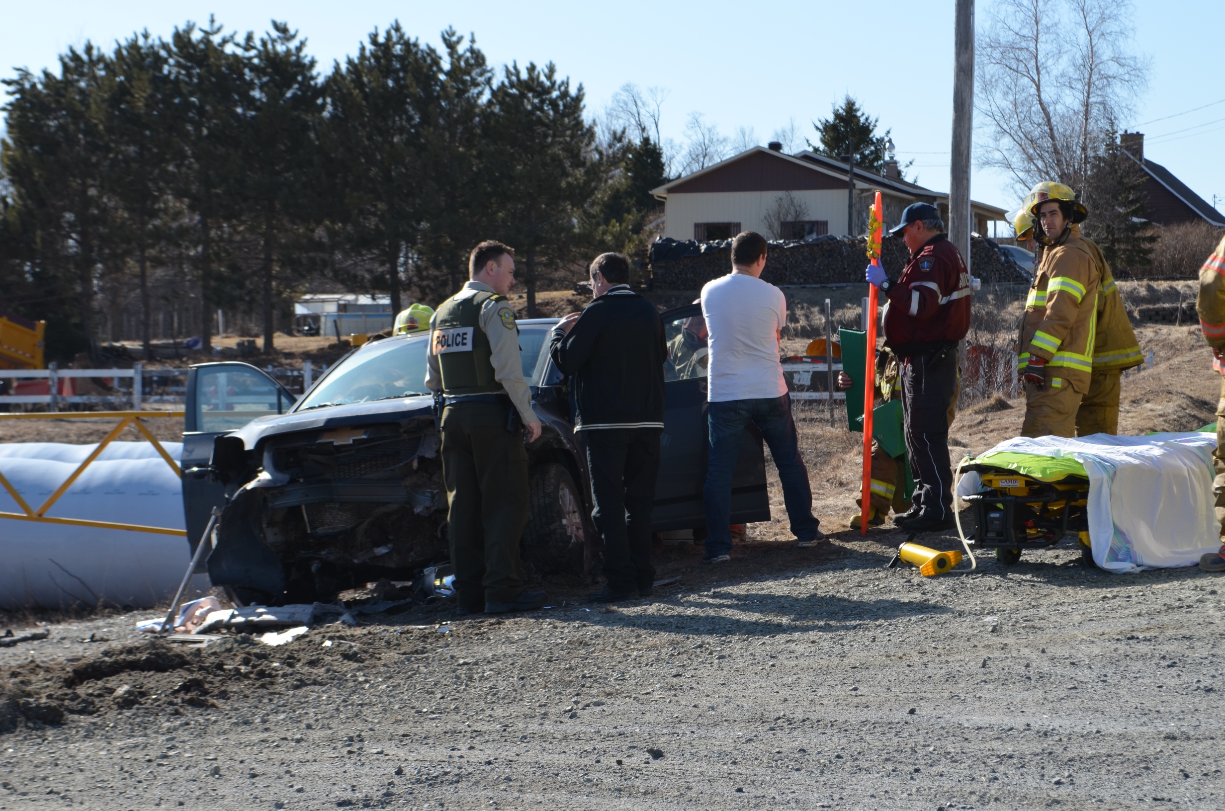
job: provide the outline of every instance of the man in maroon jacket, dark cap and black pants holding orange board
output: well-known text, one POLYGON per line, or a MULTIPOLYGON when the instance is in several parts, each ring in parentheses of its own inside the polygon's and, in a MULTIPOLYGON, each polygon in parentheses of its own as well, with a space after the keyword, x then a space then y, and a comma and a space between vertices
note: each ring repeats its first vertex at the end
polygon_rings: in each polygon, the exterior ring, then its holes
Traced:
POLYGON ((902 409, 914 506, 893 523, 908 532, 953 526, 948 407, 957 388, 957 343, 970 326, 970 273, 944 234, 940 212, 913 203, 891 229, 910 250, 897 282, 870 265, 865 276, 884 293, 884 343, 902 360, 902 409))

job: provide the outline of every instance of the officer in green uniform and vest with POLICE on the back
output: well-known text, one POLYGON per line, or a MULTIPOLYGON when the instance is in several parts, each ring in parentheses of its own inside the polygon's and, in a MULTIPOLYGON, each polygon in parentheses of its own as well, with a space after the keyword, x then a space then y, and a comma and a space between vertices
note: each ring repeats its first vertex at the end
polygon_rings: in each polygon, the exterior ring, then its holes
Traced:
POLYGON ((425 385, 442 394, 442 475, 459 614, 505 614, 544 605, 526 592, 519 537, 528 521, 528 441, 540 436, 519 360, 519 328, 506 294, 514 251, 484 241, 468 258, 470 281, 430 319, 425 385))

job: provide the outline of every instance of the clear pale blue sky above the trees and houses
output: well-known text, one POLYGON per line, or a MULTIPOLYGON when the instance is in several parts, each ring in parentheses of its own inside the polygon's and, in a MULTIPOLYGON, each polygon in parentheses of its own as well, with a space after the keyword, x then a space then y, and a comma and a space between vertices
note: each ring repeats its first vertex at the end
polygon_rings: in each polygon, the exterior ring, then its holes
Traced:
MULTIPOLYGON (((980 27, 990 4, 979 0, 980 27)), ((374 27, 396 18, 429 42, 453 26, 474 32, 494 65, 554 61, 562 75, 583 85, 592 111, 603 109, 625 82, 666 88, 664 135, 677 141, 695 110, 724 135, 751 126, 764 142, 791 119, 811 135, 811 121, 850 93, 880 118, 882 129, 893 129, 898 157, 915 160, 911 174, 919 183, 948 189, 953 0, 766 5, 4 0, 0 76, 11 76, 13 66, 54 66, 69 45, 92 40, 109 48, 146 28, 169 36, 176 25, 205 22, 209 13, 227 28, 244 32, 262 32, 270 18, 287 20, 309 39, 321 69, 353 53, 374 27), (876 13, 870 17, 870 12, 876 13)), ((1218 55, 1225 2, 1138 0, 1136 15, 1137 50, 1152 58, 1153 71, 1134 120, 1123 124, 1153 141, 1145 148, 1150 159, 1213 202, 1214 194, 1225 196, 1225 103, 1182 113, 1225 100, 1225 67, 1218 55)), ((975 169, 973 196, 1005 208, 1016 203, 1006 179, 990 170, 975 169)))

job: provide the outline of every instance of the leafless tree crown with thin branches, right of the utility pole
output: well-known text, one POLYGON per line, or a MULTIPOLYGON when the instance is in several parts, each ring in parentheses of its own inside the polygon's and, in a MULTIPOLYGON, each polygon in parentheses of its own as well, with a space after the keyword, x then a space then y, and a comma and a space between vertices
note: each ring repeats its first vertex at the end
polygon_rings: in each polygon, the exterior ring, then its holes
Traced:
POLYGON ((1080 189, 1148 82, 1127 0, 996 0, 978 42, 979 163, 1024 194, 1041 180, 1080 189))

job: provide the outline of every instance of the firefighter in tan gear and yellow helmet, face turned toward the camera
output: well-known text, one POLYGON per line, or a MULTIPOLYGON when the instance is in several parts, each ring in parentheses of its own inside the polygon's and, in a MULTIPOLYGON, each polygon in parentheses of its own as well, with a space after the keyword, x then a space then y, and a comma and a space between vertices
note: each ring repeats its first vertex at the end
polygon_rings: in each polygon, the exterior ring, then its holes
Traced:
POLYGON ((1101 273, 1080 236, 1088 212, 1058 183, 1030 192, 1042 261, 1025 300, 1018 370, 1025 381, 1022 436, 1076 436, 1077 412, 1089 393, 1101 273))

